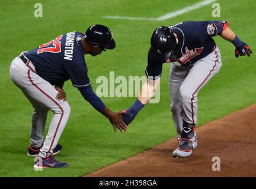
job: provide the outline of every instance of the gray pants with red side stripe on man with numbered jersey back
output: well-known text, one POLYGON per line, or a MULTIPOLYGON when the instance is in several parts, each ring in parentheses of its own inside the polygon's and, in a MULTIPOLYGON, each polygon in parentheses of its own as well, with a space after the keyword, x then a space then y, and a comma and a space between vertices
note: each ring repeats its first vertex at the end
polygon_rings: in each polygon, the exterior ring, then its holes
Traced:
POLYGON ((57 100, 58 93, 55 87, 36 74, 36 69, 31 61, 25 64, 19 57, 12 60, 9 74, 12 82, 25 94, 34 107, 32 113, 30 145, 39 148, 39 156, 47 158, 53 153, 60 136, 68 121, 71 108, 68 102, 57 100), (44 140, 44 128, 48 110, 53 112, 46 139, 44 140))

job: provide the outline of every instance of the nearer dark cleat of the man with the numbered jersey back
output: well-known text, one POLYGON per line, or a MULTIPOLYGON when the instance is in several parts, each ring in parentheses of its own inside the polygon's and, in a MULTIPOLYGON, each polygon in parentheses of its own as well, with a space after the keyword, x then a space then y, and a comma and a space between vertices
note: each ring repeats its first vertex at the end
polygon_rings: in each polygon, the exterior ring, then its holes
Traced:
POLYGON ((39 156, 37 156, 34 159, 34 170, 35 171, 42 171, 43 168, 63 168, 63 167, 69 167, 68 163, 62 163, 57 161, 52 156, 44 159, 39 156))

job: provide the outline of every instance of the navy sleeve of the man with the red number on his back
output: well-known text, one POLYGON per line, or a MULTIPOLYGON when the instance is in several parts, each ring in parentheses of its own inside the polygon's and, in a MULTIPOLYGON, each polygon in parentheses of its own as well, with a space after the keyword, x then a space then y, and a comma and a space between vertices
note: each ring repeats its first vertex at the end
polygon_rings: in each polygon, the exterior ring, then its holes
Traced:
POLYGON ((74 56, 72 61, 66 60, 65 69, 68 72, 74 87, 85 87, 90 83, 88 69, 84 57, 74 56))

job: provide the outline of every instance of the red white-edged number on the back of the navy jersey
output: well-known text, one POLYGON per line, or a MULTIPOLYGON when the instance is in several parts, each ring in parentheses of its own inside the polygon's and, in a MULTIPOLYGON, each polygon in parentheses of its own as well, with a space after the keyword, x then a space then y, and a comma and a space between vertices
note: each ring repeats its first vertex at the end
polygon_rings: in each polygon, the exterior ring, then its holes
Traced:
POLYGON ((46 44, 40 45, 39 50, 37 50, 37 54, 40 54, 43 52, 59 53, 61 51, 60 49, 61 39, 62 39, 62 35, 60 35, 59 37, 56 37, 55 40, 52 40, 46 44), (53 44, 53 47, 47 47, 50 44, 53 44))

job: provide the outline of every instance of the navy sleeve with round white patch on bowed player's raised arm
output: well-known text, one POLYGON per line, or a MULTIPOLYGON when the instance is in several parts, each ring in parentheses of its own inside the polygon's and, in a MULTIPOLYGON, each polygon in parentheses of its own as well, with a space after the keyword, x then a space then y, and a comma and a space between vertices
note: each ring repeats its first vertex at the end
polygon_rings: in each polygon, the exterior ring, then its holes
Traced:
POLYGON ((207 37, 215 37, 222 34, 229 25, 228 21, 203 21, 203 33, 207 37))

